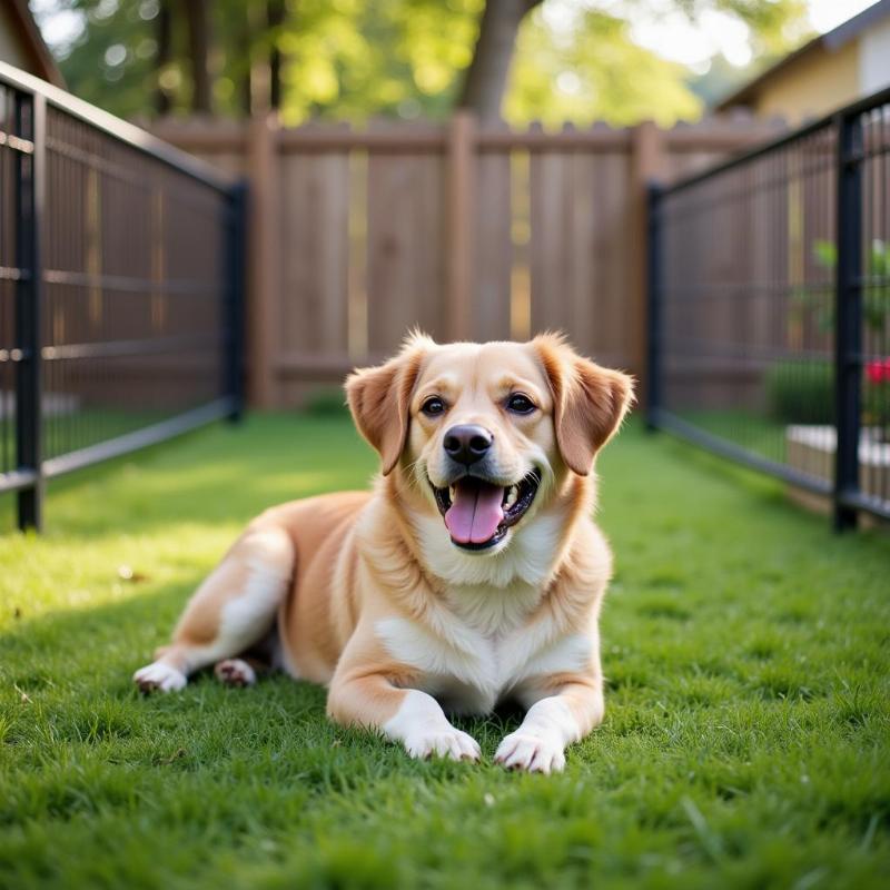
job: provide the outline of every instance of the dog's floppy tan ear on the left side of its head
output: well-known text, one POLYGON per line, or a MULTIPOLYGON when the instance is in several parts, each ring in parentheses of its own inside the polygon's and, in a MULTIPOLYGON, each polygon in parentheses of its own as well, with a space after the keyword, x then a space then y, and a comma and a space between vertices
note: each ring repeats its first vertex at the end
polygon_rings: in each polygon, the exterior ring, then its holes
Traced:
POLYGON ((384 476, 393 472, 408 437, 411 394, 426 343, 426 338, 413 336, 395 358, 375 368, 358 368, 346 378, 353 419, 379 452, 384 476))

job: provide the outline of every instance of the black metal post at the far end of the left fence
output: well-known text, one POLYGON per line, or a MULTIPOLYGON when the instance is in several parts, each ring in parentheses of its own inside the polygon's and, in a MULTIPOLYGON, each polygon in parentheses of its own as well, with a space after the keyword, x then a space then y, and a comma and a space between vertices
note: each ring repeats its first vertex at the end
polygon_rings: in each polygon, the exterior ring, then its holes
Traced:
POLYGON ((241 179, 229 192, 227 251, 227 300, 225 375, 226 395, 233 399, 229 419, 237 423, 245 406, 245 283, 247 275, 247 180, 241 179))

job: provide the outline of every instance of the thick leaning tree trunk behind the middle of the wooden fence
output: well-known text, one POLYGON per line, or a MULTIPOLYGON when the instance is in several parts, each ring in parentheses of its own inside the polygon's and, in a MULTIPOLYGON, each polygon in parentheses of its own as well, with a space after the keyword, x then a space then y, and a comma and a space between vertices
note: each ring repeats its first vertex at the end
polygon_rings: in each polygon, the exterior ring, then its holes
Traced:
POLYGON ((488 0, 479 22, 473 61, 466 72, 459 108, 483 122, 501 120, 516 34, 525 14, 542 0, 488 0))

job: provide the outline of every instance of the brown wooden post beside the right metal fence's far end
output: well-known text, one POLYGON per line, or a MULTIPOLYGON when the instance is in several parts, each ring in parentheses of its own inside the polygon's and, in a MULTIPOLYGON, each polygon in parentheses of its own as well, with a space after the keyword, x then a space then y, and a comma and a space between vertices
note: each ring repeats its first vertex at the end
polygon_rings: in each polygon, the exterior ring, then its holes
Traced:
POLYGON ((629 239, 627 244, 627 285, 630 301, 627 307, 629 329, 631 332, 630 355, 631 369, 641 377, 641 400, 649 404, 649 379, 646 359, 649 353, 649 186, 661 179, 664 167, 664 144, 662 131, 651 121, 644 121, 631 130, 631 157, 627 182, 629 198, 629 239))

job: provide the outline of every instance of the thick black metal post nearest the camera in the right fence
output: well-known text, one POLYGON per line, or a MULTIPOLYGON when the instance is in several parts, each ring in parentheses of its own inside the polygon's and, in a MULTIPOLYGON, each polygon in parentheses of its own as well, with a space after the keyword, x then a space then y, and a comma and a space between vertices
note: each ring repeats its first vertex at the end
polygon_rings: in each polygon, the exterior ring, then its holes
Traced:
POLYGON ((858 113, 838 115, 838 263, 834 295, 834 530, 854 528, 844 497, 859 491, 862 352, 862 128, 858 113))

